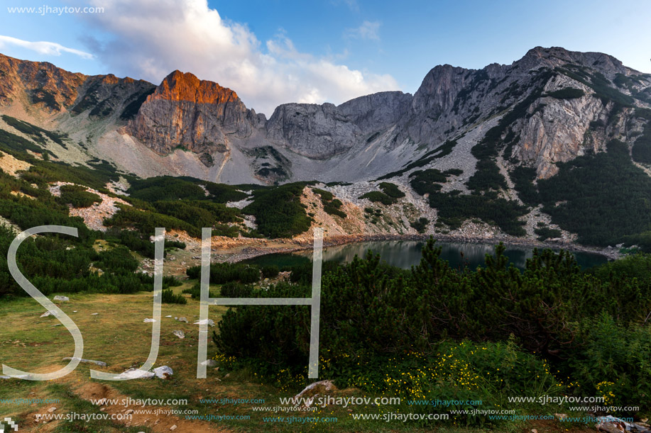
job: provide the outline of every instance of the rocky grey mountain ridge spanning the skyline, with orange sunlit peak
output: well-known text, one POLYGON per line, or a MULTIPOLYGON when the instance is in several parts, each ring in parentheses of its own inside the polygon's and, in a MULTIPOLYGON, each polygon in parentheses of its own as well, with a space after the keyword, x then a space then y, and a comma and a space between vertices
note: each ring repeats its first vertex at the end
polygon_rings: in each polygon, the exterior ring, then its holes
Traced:
POLYGON ((163 157, 160 174, 226 183, 375 179, 523 101, 527 115, 510 125, 515 142, 504 157, 549 177, 557 162, 603 150, 609 137, 625 141, 625 123, 608 119, 613 110, 625 119, 633 107, 648 106, 650 86, 649 75, 609 55, 535 47, 511 65, 434 67, 413 96, 392 91, 339 106, 287 103, 267 119, 235 91, 190 73, 172 72, 154 86, 0 55, 0 110, 76 134, 89 157, 141 176, 156 174, 155 167, 140 169, 157 164, 148 164, 149 152, 138 149, 144 146, 163 157), (601 93, 593 77, 603 78, 601 93), (584 94, 548 96, 563 89, 584 94), (116 154, 106 152, 111 142, 116 154), (145 159, 123 164, 136 153, 145 159))

